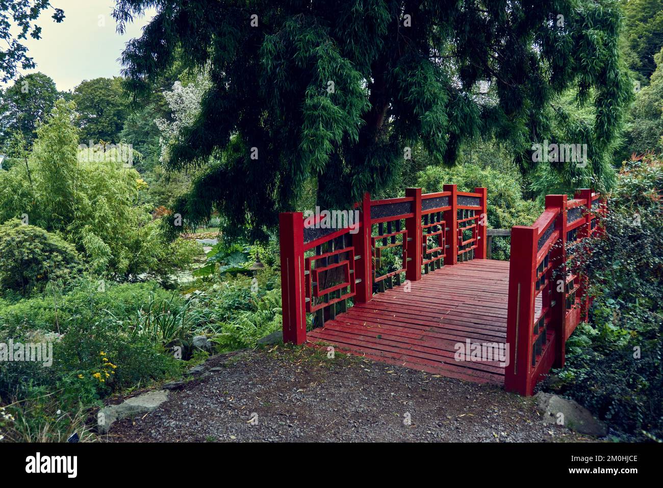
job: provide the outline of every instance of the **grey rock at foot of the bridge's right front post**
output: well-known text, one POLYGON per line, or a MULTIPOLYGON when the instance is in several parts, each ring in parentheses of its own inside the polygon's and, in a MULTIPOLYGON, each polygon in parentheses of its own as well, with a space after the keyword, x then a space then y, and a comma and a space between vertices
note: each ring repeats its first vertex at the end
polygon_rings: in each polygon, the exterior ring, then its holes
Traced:
POLYGON ((605 437, 608 433, 607 426, 603 422, 594 418, 589 410, 573 400, 544 392, 537 393, 534 398, 546 424, 563 425, 589 436, 605 437))

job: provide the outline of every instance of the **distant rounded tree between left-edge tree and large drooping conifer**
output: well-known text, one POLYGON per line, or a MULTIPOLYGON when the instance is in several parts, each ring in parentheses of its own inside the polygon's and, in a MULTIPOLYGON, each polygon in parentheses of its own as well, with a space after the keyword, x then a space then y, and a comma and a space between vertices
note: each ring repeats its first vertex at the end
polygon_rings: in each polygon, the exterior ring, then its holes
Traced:
POLYGON ((85 80, 74 88, 72 99, 76 102, 82 143, 119 142, 129 116, 121 78, 85 80))

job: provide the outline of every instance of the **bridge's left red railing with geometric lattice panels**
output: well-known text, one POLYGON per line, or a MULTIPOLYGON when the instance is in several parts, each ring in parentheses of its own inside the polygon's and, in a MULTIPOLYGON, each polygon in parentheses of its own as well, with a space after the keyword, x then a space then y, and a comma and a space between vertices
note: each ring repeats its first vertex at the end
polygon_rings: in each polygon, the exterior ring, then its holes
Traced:
POLYGON ((485 188, 463 193, 456 185, 427 195, 410 188, 405 197, 377 201, 366 193, 355 204, 359 221, 352 228, 319 228, 317 217, 305 226, 302 212, 280 214, 284 342, 306 341, 307 314, 322 325, 353 302, 420 280, 422 272, 485 258, 486 199, 485 188), (385 254, 397 263, 400 256, 400 264, 384 271, 385 254))

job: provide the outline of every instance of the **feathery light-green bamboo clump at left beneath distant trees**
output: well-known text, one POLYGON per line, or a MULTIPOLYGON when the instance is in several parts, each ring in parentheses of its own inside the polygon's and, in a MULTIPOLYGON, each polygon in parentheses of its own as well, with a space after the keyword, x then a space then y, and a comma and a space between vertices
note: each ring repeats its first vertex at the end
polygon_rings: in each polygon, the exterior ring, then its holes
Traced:
POLYGON ((74 108, 58 100, 38 129, 29 163, 0 172, 0 222, 25 213, 30 223, 62 232, 96 274, 168 281, 173 268, 190 266, 200 247, 162 236, 158 220, 139 205, 147 185, 125 167, 133 155, 125 146, 79 150, 74 108))

